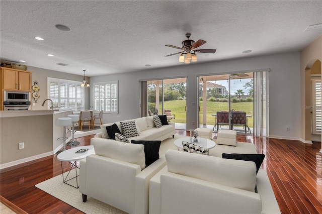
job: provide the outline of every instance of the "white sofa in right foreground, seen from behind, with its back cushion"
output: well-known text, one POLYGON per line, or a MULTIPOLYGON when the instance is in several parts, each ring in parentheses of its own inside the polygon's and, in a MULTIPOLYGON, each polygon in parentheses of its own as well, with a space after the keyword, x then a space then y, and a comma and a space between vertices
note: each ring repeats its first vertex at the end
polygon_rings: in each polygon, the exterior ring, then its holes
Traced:
POLYGON ((150 180, 149 213, 280 213, 266 171, 256 175, 254 162, 176 150, 166 160, 150 180))

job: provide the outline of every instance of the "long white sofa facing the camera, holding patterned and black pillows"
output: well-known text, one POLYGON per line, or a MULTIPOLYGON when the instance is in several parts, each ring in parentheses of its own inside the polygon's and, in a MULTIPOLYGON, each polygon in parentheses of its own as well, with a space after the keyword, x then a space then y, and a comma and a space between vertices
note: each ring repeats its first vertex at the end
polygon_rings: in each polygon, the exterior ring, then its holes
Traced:
MULTIPOLYGON (((156 128, 153 122, 153 116, 137 118, 132 120, 135 120, 135 123, 140 133, 139 133, 139 136, 128 138, 128 140, 130 141, 131 140, 164 141, 167 138, 174 137, 175 135, 175 123, 168 122, 169 125, 162 126, 161 128, 156 128)), ((104 138, 106 142, 115 141, 109 138, 106 131, 106 127, 111 126, 113 124, 114 123, 101 125, 101 133, 96 134, 95 137, 104 138)), ((115 122, 115 124, 118 126, 119 130, 121 131, 121 134, 123 134, 120 122, 115 122)))

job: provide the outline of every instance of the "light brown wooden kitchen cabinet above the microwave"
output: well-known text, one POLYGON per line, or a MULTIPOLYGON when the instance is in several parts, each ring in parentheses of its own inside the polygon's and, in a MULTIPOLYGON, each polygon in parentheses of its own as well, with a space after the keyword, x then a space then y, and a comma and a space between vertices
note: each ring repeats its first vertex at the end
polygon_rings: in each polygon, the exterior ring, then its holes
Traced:
POLYGON ((32 72, 4 67, 1 70, 3 90, 31 91, 32 72))

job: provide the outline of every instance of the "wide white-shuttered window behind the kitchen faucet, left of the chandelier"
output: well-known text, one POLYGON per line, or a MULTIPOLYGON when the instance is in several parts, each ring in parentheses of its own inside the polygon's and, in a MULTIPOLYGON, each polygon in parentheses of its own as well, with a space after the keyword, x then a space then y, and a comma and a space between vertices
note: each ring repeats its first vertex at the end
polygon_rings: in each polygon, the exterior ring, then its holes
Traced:
MULTIPOLYGON (((54 108, 79 110, 84 109, 84 87, 82 82, 48 77, 48 98, 54 108)), ((48 103, 50 108, 51 103, 48 103)))

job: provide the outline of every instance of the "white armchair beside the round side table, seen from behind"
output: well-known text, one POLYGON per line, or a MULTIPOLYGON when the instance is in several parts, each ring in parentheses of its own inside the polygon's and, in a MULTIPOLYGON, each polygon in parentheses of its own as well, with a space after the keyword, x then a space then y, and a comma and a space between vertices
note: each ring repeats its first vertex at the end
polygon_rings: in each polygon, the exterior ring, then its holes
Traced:
POLYGON ((96 154, 80 161, 79 192, 128 213, 148 213, 149 180, 166 165, 165 157, 145 167, 144 146, 95 138, 96 154))

